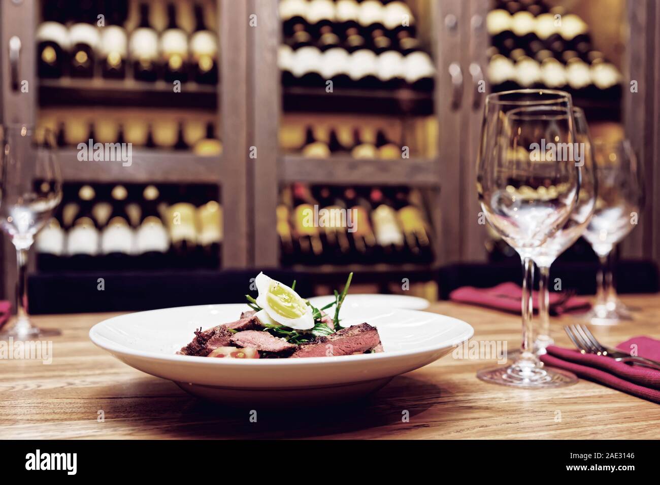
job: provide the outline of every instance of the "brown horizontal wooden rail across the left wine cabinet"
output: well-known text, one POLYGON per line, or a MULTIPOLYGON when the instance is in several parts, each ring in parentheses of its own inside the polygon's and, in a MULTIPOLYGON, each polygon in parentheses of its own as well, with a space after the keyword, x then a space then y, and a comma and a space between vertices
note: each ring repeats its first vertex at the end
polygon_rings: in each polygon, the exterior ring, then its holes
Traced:
POLYGON ((57 157, 65 181, 218 183, 222 174, 222 156, 190 152, 136 148, 130 166, 123 166, 121 161, 81 162, 75 148, 63 148, 57 157))

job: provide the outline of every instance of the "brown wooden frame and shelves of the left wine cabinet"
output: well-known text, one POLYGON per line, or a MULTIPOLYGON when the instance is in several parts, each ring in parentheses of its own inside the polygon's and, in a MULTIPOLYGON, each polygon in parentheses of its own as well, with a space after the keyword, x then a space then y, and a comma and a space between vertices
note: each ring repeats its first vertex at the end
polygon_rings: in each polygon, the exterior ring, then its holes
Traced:
MULTIPOLYGON (((135 3, 137 6, 137 3, 135 3)), ((191 6, 191 4, 189 5, 191 6)), ((199 156, 192 152, 150 150, 133 151, 130 167, 104 164, 99 167, 79 162, 75 148, 59 150, 58 157, 65 181, 98 183, 211 183, 220 187, 224 206, 222 244, 223 268, 242 268, 251 263, 249 248, 248 202, 248 130, 249 119, 248 68, 251 53, 248 42, 248 2, 218 0, 217 22, 220 45, 220 81, 217 86, 183 83, 181 92, 174 92, 165 81, 138 82, 124 80, 51 79, 36 77, 35 33, 40 2, 34 0, 6 1, 0 5, 2 67, 0 69, 1 121, 36 123, 43 106, 62 109, 117 105, 146 108, 205 108, 215 112, 221 127, 224 150, 220 156, 199 156), (244 19, 245 21, 238 21, 244 19), (16 41, 18 40, 18 44, 16 41), (20 45, 20 49, 13 46, 20 45)), ((90 114, 90 117, 93 117, 90 114)), ((13 245, 3 236, 3 298, 12 299, 15 282, 13 245)))

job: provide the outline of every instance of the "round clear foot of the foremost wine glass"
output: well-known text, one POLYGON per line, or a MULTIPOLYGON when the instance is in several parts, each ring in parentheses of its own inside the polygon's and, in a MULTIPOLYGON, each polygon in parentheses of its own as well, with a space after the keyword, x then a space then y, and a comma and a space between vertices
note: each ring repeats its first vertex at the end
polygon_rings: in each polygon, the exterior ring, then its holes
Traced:
POLYGON ((548 389, 573 385, 578 382, 576 375, 564 370, 541 366, 525 367, 519 364, 482 369, 477 372, 477 377, 484 382, 521 389, 548 389))

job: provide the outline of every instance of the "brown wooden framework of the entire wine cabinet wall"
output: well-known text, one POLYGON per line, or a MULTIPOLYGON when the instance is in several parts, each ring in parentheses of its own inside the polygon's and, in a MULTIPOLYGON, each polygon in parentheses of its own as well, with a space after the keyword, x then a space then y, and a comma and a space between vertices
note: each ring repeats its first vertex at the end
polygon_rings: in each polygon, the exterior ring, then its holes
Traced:
MULTIPOLYGON (((623 20, 628 24, 622 123, 644 163, 647 196, 640 227, 622 244, 622 255, 660 261, 660 96, 655 92, 660 85, 660 7, 653 0, 621 1, 626 12, 623 20), (628 89, 631 81, 637 81, 637 92, 628 89)), ((189 106, 215 106, 222 127, 222 156, 142 150, 129 172, 116 167, 99 171, 78 162, 72 150, 62 150, 59 156, 65 179, 217 183, 222 187, 225 214, 225 268, 281 265, 275 207, 284 184, 408 184, 424 189, 430 207, 436 259, 429 269, 457 261, 487 261, 475 166, 484 99, 490 92, 486 15, 492 5, 489 0, 409 3, 426 31, 426 46, 432 53, 436 69, 432 94, 402 99, 399 94, 352 91, 335 92, 335 97, 323 99, 314 90, 282 88, 277 59, 282 40, 278 0, 218 0, 220 15, 215 27, 220 41, 220 82, 210 90, 183 92, 182 98, 188 96, 189 106), (403 116, 428 117, 436 127, 431 135, 434 149, 396 162, 348 157, 314 160, 281 150, 279 131, 287 111, 350 112, 352 105, 358 106, 358 98, 364 98, 361 106, 369 107, 365 111, 392 112, 405 106, 403 116)), ((5 1, 0 8, 3 122, 34 122, 38 107, 53 102, 93 105, 103 97, 147 105, 169 102, 168 90, 135 82, 40 81, 34 58, 38 2, 5 1)), ((14 256, 11 244, 6 238, 3 242, 4 294, 9 296, 15 277, 14 256)))

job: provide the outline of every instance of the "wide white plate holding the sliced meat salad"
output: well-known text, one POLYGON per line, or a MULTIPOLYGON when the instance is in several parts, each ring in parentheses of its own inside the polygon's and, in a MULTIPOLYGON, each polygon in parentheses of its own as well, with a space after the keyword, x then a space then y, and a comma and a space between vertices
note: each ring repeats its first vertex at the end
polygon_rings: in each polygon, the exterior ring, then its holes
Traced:
MULTIPOLYGON (((94 344, 129 366, 170 379, 185 391, 226 404, 288 406, 366 395, 392 377, 430 364, 472 337, 464 321, 409 309, 342 307, 344 325, 378 328, 385 352, 298 359, 214 359, 180 356, 193 331, 235 321, 243 304, 166 308, 97 323, 94 344)), ((117 383, 119 384, 119 383, 117 383)))

